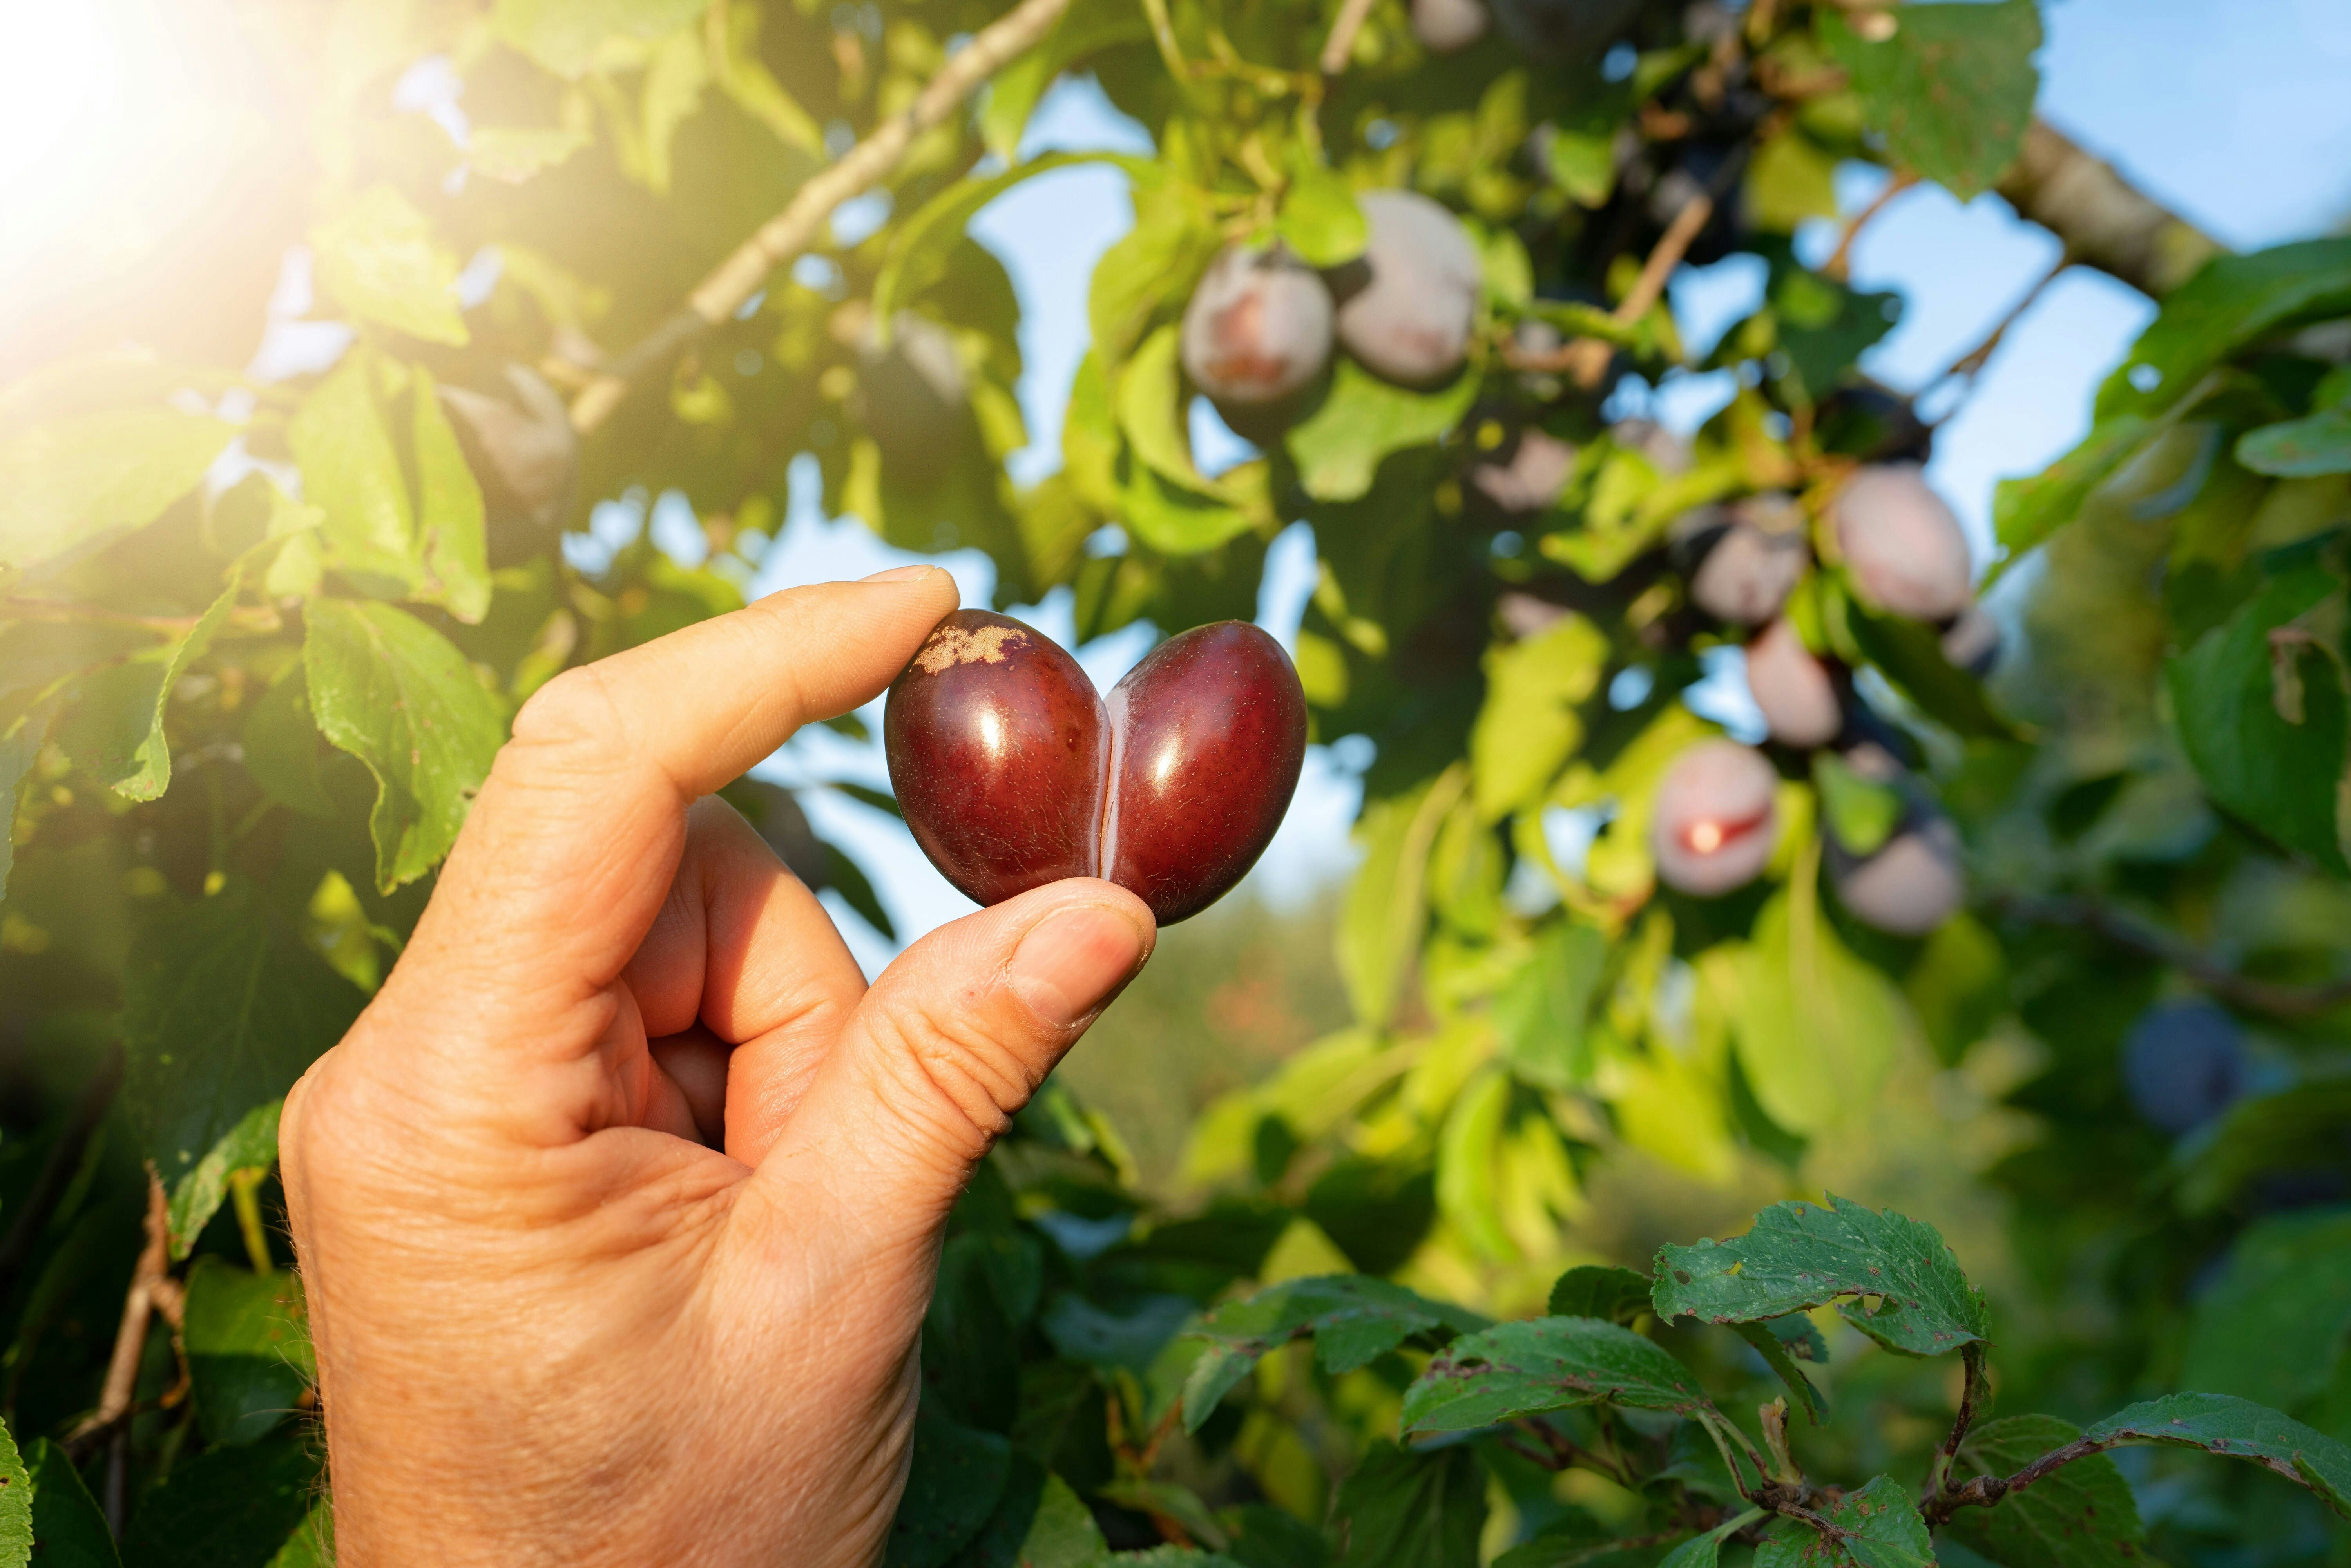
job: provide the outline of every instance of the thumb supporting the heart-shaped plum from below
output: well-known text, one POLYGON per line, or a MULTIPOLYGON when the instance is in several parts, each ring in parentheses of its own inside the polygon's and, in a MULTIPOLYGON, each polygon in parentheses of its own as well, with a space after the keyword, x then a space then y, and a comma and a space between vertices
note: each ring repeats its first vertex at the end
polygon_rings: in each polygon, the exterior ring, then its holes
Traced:
POLYGON ((1154 936, 1140 898, 1093 879, 940 926, 858 1001, 757 1182, 802 1222, 811 1199, 832 1208, 865 1246, 926 1241, 1154 936))

